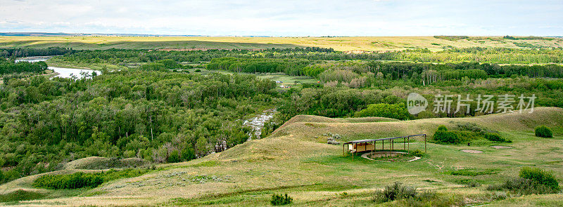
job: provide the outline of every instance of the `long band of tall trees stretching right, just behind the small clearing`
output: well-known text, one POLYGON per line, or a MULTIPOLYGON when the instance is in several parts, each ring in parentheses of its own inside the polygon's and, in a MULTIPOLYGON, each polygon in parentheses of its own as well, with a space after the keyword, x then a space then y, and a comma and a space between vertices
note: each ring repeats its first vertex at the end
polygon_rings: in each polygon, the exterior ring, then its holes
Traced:
POLYGON ((561 65, 491 65, 479 62, 446 64, 382 61, 315 62, 304 59, 214 58, 206 67, 230 72, 281 72, 288 75, 313 76, 325 83, 345 82, 353 88, 372 86, 372 84, 351 84, 352 81, 373 82, 375 79, 411 79, 417 84, 426 85, 463 78, 487 79, 511 76, 563 78, 561 65))

